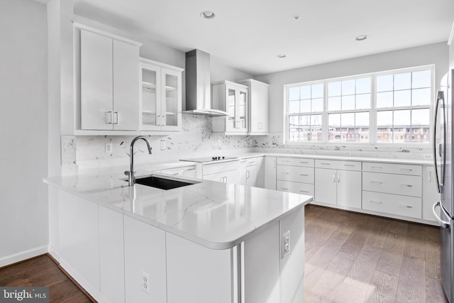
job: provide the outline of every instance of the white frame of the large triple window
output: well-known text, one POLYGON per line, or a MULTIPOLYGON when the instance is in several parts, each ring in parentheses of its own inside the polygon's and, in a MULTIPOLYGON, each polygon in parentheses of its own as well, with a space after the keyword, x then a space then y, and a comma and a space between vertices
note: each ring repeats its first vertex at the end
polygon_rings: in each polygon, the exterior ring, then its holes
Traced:
MULTIPOLYGON (((393 90, 394 92, 394 90, 393 90)), ((293 84, 284 84, 284 131, 283 131, 283 141, 286 145, 355 145, 355 146, 390 146, 396 147, 428 147, 431 146, 433 138, 430 138, 427 143, 380 143, 377 142, 377 112, 386 111, 386 110, 402 110, 402 109, 429 109, 429 131, 431 133, 431 125, 433 123, 433 98, 435 96, 435 65, 420 65, 416 67, 405 67, 395 70, 384 70, 380 72, 370 72, 359 75, 349 75, 344 77, 334 77, 321 80, 313 80, 307 82, 299 82, 293 84), (383 75, 395 75, 404 72, 419 72, 422 70, 430 70, 431 72, 431 101, 428 105, 419 105, 419 106, 392 106, 387 108, 377 109, 377 77, 383 75), (328 83, 330 82, 339 82, 345 81, 348 79, 360 79, 364 77, 371 78, 371 89, 370 89, 370 109, 350 109, 350 110, 337 110, 337 111, 327 111, 328 109, 328 83), (306 85, 314 84, 323 84, 323 111, 318 112, 300 112, 289 114, 289 99, 288 92, 289 88, 292 87, 301 87, 306 85), (369 113, 369 142, 329 142, 328 141, 328 114, 345 114, 345 113, 356 113, 356 112, 368 112, 369 113), (290 141, 289 140, 289 116, 301 116, 301 115, 312 115, 312 114, 321 114, 322 121, 322 140, 321 141, 290 141)), ((392 136, 396 136, 393 135, 392 136)), ((394 139, 393 139, 394 140, 394 139)))

